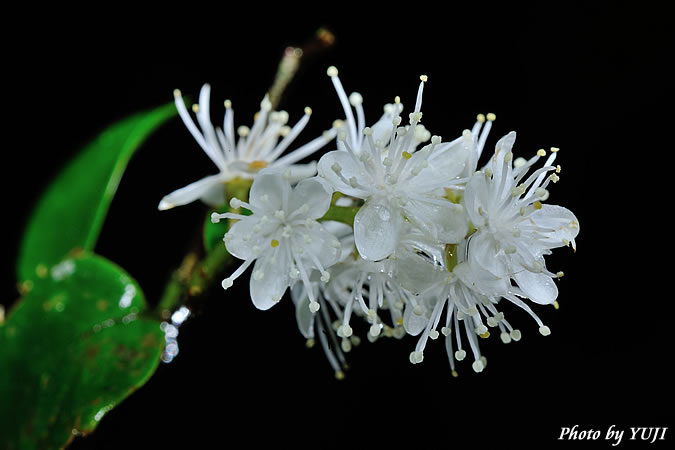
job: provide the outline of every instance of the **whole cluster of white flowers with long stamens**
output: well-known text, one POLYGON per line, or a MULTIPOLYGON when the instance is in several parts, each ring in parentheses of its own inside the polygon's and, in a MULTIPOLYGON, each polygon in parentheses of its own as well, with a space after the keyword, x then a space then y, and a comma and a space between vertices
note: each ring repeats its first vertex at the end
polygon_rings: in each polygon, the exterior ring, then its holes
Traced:
POLYGON ((576 250, 579 232, 572 212, 544 203, 559 180, 558 149, 515 158, 511 132, 479 167, 494 114, 479 114, 453 140, 431 135, 421 124, 427 82, 421 76, 412 112, 403 115, 396 97, 366 126, 363 97, 347 95, 336 68, 328 75, 344 120, 283 156, 309 108, 289 129, 288 114, 272 111, 265 98, 235 144, 229 101, 222 130, 214 129, 204 86, 193 108, 200 132, 176 93, 181 117, 220 173, 166 196, 160 209, 198 198, 223 205, 228 181, 253 180, 248 199, 228 195, 230 211, 212 215, 214 222, 231 221, 225 246, 243 260, 223 288, 253 266, 257 308, 274 306, 290 291, 300 332, 310 345, 318 337, 338 377, 344 352, 360 342, 354 317, 365 322, 370 341, 417 336, 412 363, 422 362, 429 339, 443 335, 453 375, 467 352, 472 368, 484 369, 479 340, 491 328, 504 343, 521 338, 502 301, 525 310, 549 335, 529 304, 555 304, 555 279, 563 274, 550 271, 544 258, 556 247, 576 250), (318 164, 296 164, 329 144, 318 164))

